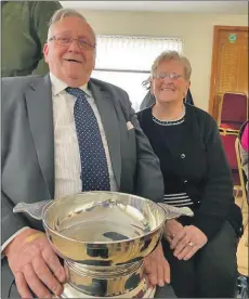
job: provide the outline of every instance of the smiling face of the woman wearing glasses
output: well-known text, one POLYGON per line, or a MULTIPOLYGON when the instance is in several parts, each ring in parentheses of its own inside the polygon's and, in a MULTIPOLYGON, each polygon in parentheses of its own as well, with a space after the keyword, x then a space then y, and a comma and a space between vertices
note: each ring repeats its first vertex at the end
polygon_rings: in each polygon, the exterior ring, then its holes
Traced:
POLYGON ((157 102, 182 102, 189 88, 189 80, 185 79, 183 64, 179 61, 161 62, 152 78, 152 93, 157 102))

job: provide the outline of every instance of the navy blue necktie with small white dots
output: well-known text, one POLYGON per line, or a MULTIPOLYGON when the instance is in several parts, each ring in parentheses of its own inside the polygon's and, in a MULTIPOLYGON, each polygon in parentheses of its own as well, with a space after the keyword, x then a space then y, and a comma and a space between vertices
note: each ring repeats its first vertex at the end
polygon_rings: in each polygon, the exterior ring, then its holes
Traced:
POLYGON ((84 92, 79 88, 66 88, 76 96, 75 125, 81 160, 82 191, 109 191, 109 172, 99 123, 84 92))

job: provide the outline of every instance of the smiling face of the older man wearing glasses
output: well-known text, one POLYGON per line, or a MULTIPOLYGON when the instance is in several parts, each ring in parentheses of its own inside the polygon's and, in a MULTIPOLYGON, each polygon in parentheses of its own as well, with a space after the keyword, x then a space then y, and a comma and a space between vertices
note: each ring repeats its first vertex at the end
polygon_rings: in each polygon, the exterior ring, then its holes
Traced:
POLYGON ((80 87, 89 81, 94 68, 94 44, 90 25, 80 17, 68 16, 51 26, 44 58, 55 77, 70 87, 80 87))

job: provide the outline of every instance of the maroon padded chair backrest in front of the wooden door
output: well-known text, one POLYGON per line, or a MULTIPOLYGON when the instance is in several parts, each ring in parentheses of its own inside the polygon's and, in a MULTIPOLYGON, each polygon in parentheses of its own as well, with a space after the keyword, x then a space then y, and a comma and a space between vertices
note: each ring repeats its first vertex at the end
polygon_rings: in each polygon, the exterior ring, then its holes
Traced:
POLYGON ((225 92, 218 117, 220 131, 238 133, 248 117, 248 98, 244 93, 225 92))

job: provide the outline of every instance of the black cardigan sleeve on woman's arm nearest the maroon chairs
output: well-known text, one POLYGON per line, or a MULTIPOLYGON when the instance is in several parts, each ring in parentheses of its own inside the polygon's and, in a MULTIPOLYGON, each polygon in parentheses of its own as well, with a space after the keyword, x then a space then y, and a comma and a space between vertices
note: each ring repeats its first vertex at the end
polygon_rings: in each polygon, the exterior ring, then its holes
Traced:
POLYGON ((201 206, 194 216, 193 224, 207 237, 212 238, 221 229, 234 204, 233 181, 219 129, 214 119, 205 122, 205 144, 207 151, 207 176, 201 206))

